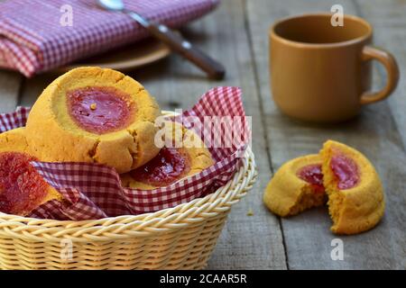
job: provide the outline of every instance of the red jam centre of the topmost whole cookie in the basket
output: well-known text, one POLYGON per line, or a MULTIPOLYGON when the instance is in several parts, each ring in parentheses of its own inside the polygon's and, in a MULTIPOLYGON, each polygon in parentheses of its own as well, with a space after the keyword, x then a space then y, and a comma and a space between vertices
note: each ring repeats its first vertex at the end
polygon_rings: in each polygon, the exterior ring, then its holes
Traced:
POLYGON ((85 87, 67 93, 69 114, 88 132, 104 134, 124 129, 134 114, 129 95, 114 87, 85 87))

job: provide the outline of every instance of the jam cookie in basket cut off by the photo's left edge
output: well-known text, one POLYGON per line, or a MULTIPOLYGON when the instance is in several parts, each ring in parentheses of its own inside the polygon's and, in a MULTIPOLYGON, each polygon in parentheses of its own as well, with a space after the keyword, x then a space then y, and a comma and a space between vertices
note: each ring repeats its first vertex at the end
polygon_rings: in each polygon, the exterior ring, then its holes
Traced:
POLYGON ((0 211, 26 216, 32 210, 62 197, 30 164, 24 129, 0 134, 0 211))

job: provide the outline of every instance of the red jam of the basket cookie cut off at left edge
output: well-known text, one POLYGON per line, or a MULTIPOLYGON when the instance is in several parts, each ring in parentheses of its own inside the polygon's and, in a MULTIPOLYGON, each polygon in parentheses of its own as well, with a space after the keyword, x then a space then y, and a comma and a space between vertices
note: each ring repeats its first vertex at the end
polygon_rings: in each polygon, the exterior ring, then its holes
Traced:
POLYGON ((26 215, 48 192, 48 184, 30 165, 34 157, 23 153, 0 154, 0 211, 26 215))

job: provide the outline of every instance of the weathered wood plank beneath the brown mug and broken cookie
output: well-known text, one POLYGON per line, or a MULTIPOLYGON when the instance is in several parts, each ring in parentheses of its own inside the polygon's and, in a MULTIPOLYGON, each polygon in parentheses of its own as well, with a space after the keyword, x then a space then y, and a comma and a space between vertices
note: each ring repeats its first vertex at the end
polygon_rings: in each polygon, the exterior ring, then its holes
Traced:
MULTIPOLYGON (((261 87, 264 127, 272 166, 276 169, 292 157, 315 153, 326 139, 337 139, 359 148, 372 160, 383 178, 386 192, 385 217, 376 229, 357 236, 339 237, 344 241, 344 261, 333 261, 330 258, 331 239, 337 236, 329 231, 331 222, 325 208, 281 220, 288 263, 292 269, 405 268, 406 227, 403 222, 403 207, 406 192, 406 156, 388 102, 365 107, 362 114, 353 121, 318 127, 293 121, 282 115, 271 100, 267 39, 270 24, 278 18, 292 14, 328 12, 331 5, 336 3, 318 0, 247 2, 248 23, 252 34, 256 74, 261 87)), ((351 1, 340 1, 340 4, 344 5, 347 14, 357 13, 357 7, 351 1)), ((378 11, 381 4, 374 5, 378 11)))

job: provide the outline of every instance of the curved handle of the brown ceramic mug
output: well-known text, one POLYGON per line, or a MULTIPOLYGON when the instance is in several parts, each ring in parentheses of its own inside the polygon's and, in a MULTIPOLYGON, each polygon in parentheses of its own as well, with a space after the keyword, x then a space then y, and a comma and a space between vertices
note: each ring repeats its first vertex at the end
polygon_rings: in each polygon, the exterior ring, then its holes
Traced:
POLYGON ((398 85, 399 81, 398 64, 396 63, 396 60, 391 53, 383 49, 376 49, 371 46, 364 47, 362 58, 363 61, 369 61, 373 59, 380 61, 386 68, 388 81, 383 90, 379 92, 364 93, 361 96, 361 104, 364 105, 382 101, 383 99, 387 98, 390 94, 392 94, 393 90, 396 88, 396 85, 398 85))

